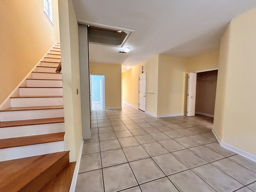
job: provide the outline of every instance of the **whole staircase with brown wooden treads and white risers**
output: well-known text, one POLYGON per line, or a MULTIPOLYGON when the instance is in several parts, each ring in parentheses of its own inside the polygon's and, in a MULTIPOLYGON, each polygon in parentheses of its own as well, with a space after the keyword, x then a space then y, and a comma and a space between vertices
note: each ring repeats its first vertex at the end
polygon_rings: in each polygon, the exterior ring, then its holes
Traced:
POLYGON ((60 44, 0 109, 0 191, 69 191, 75 162, 65 152, 60 44))

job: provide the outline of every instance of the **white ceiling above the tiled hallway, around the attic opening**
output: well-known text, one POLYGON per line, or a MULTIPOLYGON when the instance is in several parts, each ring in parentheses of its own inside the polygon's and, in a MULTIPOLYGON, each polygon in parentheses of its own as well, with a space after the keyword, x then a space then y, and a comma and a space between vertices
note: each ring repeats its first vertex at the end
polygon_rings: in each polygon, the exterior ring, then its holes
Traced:
POLYGON ((134 30, 123 48, 89 44, 90 62, 136 66, 157 54, 192 57, 219 49, 230 20, 256 0, 73 0, 77 20, 134 30), (124 47, 130 52, 120 54, 124 47))

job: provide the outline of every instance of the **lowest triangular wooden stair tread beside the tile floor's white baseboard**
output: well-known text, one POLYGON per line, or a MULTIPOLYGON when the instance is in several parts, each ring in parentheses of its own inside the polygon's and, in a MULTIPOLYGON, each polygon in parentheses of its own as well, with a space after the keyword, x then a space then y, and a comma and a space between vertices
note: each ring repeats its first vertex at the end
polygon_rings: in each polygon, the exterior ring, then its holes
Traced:
POLYGON ((71 162, 38 192, 69 192, 76 162, 71 162))

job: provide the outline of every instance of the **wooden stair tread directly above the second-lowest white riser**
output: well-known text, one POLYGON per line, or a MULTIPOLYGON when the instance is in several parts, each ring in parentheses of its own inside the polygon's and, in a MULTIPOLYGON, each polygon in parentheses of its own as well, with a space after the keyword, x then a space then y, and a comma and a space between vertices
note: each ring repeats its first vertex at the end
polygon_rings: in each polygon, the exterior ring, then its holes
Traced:
POLYGON ((30 119, 30 120, 19 120, 19 121, 4 121, 4 122, 0 122, 0 128, 49 124, 49 123, 62 123, 62 122, 64 122, 64 117, 46 118, 46 119, 30 119))

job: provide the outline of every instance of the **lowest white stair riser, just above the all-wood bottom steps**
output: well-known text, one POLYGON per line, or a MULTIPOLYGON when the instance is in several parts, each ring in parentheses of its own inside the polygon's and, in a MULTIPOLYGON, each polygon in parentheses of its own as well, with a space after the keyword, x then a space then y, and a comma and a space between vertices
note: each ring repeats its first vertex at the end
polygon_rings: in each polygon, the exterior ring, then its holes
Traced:
POLYGON ((64 141, 0 149, 0 161, 64 151, 64 141))

